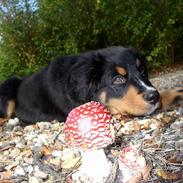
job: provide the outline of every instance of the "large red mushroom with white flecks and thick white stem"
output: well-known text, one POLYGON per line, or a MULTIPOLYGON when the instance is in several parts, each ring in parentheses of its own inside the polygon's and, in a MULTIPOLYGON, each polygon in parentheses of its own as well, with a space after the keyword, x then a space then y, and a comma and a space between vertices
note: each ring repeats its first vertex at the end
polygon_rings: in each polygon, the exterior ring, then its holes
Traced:
POLYGON ((75 177, 87 177, 89 182, 102 183, 111 169, 103 148, 114 140, 109 111, 94 101, 76 107, 69 113, 64 131, 67 145, 78 148, 82 156, 82 164, 75 177))

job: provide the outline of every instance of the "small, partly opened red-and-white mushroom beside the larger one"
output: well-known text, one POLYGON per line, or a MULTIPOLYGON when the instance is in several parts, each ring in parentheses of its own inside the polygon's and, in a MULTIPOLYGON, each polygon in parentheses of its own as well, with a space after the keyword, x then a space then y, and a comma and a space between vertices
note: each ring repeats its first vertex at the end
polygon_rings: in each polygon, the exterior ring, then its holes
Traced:
POLYGON ((137 183, 146 180, 151 170, 142 153, 131 144, 120 151, 118 163, 120 175, 122 175, 118 179, 123 183, 137 183))

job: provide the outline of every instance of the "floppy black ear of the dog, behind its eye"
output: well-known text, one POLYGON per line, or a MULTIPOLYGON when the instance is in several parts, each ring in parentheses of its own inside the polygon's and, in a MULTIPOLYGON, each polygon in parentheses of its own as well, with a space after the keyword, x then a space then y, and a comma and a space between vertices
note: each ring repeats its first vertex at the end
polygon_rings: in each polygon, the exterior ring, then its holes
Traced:
POLYGON ((81 103, 92 100, 102 83, 106 69, 109 67, 107 65, 105 57, 99 53, 80 58, 69 75, 68 92, 70 96, 73 95, 73 98, 77 98, 81 103), (90 61, 87 62, 88 60, 90 61))

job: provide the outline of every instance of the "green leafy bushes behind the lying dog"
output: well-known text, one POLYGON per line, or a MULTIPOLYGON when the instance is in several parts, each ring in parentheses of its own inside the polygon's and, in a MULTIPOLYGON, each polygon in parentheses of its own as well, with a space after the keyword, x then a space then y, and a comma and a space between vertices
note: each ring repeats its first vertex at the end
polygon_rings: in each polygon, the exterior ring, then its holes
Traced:
POLYGON ((169 63, 183 46, 182 9, 182 0, 3 0, 0 80, 112 45, 140 49, 149 67, 169 63))

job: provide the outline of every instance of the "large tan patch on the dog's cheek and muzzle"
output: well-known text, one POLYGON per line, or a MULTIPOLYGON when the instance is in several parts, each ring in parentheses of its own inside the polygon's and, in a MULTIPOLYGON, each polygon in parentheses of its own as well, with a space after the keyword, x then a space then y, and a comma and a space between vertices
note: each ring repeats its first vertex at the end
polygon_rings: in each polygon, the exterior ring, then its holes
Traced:
POLYGON ((126 95, 122 98, 110 99, 107 106, 112 114, 131 114, 144 115, 150 109, 151 105, 143 99, 143 93, 138 94, 134 86, 130 86, 126 95))

